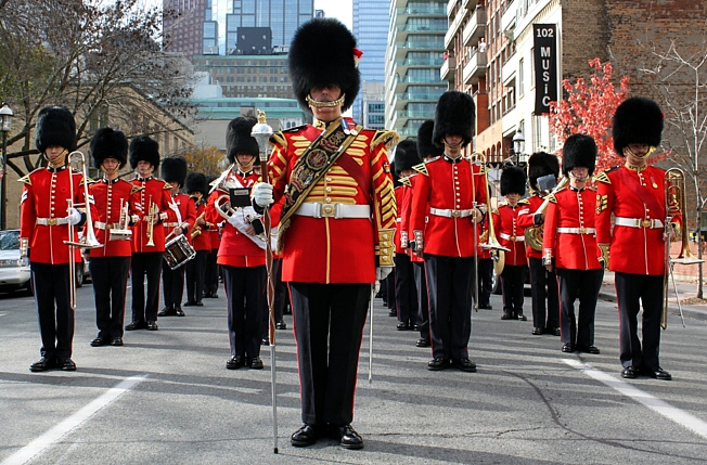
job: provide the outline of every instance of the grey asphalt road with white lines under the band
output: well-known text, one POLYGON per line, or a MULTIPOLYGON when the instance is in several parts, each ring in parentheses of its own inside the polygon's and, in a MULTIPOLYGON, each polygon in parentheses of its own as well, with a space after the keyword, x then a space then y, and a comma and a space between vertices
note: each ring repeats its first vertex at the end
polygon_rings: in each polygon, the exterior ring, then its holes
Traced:
MULTIPOLYGON (((224 299, 163 318, 158 332, 126 333, 125 347, 95 336, 91 285, 78 290, 75 373, 30 373, 39 358, 31 297, 0 296, 0 464, 297 463, 704 463, 707 461, 707 322, 663 333, 672 382, 619 376, 617 317, 602 301, 600 356, 565 354, 531 322, 473 315, 478 372, 428 372, 429 349, 398 332, 375 301, 373 383, 369 328, 354 426, 361 451, 321 440, 293 448, 300 426, 292 318, 278 332, 279 454, 273 453, 270 352, 266 370, 227 371, 224 299)), ((130 301, 128 299, 128 312, 130 301)), ((530 300, 526 298, 526 314, 530 300)))

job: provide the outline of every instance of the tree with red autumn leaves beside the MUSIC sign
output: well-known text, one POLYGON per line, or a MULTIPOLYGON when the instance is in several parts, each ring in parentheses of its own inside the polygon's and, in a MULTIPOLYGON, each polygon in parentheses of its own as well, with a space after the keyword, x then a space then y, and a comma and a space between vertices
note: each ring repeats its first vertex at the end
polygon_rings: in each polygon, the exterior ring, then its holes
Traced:
POLYGON ((591 135, 596 141, 599 159, 595 172, 601 172, 624 160, 614 153, 614 138, 610 135, 612 118, 616 107, 627 98, 629 78, 624 76, 618 90, 613 82, 610 62, 602 63, 600 59, 589 61, 593 69, 589 82, 577 78, 573 85, 563 79, 562 87, 566 99, 551 102, 550 127, 561 143, 576 133, 591 135))

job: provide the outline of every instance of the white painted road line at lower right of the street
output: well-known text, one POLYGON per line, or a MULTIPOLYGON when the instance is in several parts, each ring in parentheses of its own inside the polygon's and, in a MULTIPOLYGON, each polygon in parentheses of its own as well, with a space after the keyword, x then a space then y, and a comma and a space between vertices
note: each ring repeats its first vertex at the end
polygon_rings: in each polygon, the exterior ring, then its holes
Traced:
POLYGON ((565 363, 569 366, 584 372, 590 377, 605 384, 606 386, 619 391, 624 396, 630 397, 637 402, 642 403, 654 412, 659 413, 666 418, 684 426, 685 428, 696 432, 703 438, 707 438, 707 423, 697 418, 694 415, 691 415, 687 412, 684 412, 678 408, 670 405, 669 403, 642 391, 641 389, 621 380, 617 379, 612 375, 608 375, 604 372, 601 372, 592 367, 589 363, 581 363, 577 360, 563 359, 565 363))

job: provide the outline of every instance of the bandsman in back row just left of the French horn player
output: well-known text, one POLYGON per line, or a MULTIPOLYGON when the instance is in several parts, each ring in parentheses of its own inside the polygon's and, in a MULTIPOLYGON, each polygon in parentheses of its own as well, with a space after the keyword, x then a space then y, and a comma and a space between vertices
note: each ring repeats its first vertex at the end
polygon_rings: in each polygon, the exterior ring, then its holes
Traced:
POLYGON ((525 171, 512 166, 501 173, 501 195, 505 204, 493 212, 493 228, 498 233, 499 244, 507 247, 505 264, 501 273, 501 290, 503 293, 503 315, 501 320, 528 319, 523 314, 523 286, 527 273, 525 257, 525 229, 518 224, 519 212, 528 207, 528 201, 520 199, 525 195, 525 171))

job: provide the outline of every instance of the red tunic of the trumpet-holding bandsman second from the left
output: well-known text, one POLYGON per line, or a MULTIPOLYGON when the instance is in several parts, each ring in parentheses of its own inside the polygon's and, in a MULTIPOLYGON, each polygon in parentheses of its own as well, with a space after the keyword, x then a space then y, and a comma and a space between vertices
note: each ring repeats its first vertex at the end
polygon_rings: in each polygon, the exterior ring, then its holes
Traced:
POLYGON ((93 232, 98 242, 103 244, 103 247, 91 248, 90 257, 130 257, 132 255, 132 241, 110 241, 110 237, 111 229, 120 223, 120 208, 124 205, 128 205, 128 215, 137 214, 134 206, 140 198, 139 191, 140 188, 120 178, 112 181, 103 178, 89 186, 89 194, 93 197, 91 205, 93 232))

